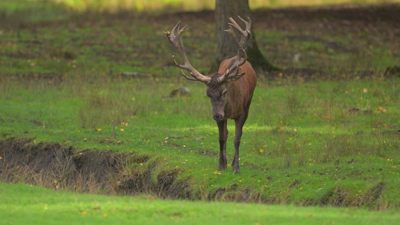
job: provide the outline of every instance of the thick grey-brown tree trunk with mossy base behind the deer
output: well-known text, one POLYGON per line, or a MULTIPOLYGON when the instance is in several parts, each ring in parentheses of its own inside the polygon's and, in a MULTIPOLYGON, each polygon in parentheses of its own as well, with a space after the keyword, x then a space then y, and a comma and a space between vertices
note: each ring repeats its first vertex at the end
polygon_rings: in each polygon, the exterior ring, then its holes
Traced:
MULTIPOLYGON (((212 70, 218 70, 220 63, 238 54, 238 48, 230 34, 224 32, 228 30, 230 20, 232 17, 239 25, 243 25, 241 21, 238 21, 238 16, 247 20, 247 17, 251 19, 250 7, 248 0, 216 0, 215 1, 215 20, 217 25, 217 52, 215 63, 212 65, 212 70)), ((271 64, 261 54, 258 49, 256 38, 254 37, 253 28, 250 30, 250 39, 247 42, 247 61, 249 61, 255 70, 279 70, 277 66, 271 64)))

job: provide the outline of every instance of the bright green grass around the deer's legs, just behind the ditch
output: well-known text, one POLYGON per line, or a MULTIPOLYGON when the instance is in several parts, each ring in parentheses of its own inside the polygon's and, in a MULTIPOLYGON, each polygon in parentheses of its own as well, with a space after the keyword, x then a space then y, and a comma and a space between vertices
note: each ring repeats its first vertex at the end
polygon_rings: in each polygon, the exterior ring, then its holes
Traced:
MULTIPOLYGON (((382 198, 370 199, 369 207, 400 204, 392 197, 397 189, 390 188, 396 187, 400 177, 400 141, 398 135, 386 133, 396 130, 398 124, 398 100, 392 95, 392 84, 358 80, 270 86, 260 80, 242 136, 241 173, 232 176, 232 167, 214 174, 218 156, 203 154, 218 153, 219 149, 218 130, 208 116, 209 100, 196 94, 204 92, 204 85, 183 82, 193 94, 181 98, 160 94, 180 84, 171 86, 163 79, 82 86, 14 84, 13 95, 1 101, 0 133, 3 139, 31 137, 33 144, 54 142, 77 150, 151 154, 150 161, 134 163, 125 172, 145 170, 152 161, 160 161, 153 181, 157 182, 162 171, 176 170, 177 182, 190 178, 194 199, 212 197, 220 188, 227 190, 221 199, 251 189, 255 196, 262 193, 273 203, 314 205, 328 201, 324 198, 332 191, 344 189, 350 192, 344 204, 354 205, 384 182, 382 198), (368 115, 352 114, 348 110, 353 106, 367 110, 368 115), (377 110, 382 106, 386 112, 377 110), (115 141, 112 120, 116 123, 115 141), (364 134, 357 135, 359 131, 364 134), (171 135, 184 138, 163 140, 171 135), (355 163, 349 164, 352 158, 355 163), (251 177, 265 170, 267 174, 251 177)), ((234 130, 233 123, 228 129, 234 130)), ((228 163, 233 158, 233 135, 228 139, 228 163)))

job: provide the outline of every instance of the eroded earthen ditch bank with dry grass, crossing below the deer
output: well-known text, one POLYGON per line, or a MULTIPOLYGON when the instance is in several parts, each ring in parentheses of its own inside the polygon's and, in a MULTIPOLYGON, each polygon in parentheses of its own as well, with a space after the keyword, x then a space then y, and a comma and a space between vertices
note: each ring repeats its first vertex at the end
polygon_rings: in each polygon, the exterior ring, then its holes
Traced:
MULTIPOLYGON (((22 182, 93 194, 146 193, 163 199, 292 203, 289 196, 276 193, 266 197, 250 188, 238 189, 236 185, 212 193, 194 192, 190 189, 190 178, 177 179, 177 169, 160 170, 160 161, 149 154, 94 149, 76 151, 60 144, 33 144, 31 139, 12 138, 0 142, 0 157, 1 182, 22 182), (146 169, 132 169, 129 165, 133 163, 146 163, 146 169)), ((288 188, 291 186, 296 185, 288 188)), ((337 187, 318 199, 304 199, 296 204, 377 208, 376 200, 382 197, 385 186, 384 182, 378 183, 356 199, 351 197, 351 191, 337 187)))

